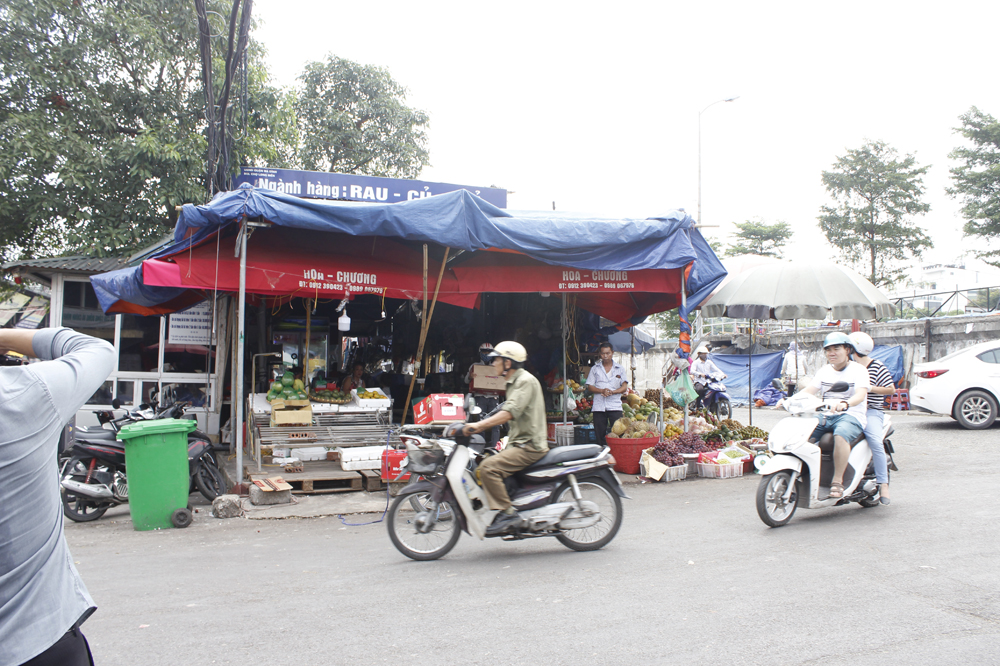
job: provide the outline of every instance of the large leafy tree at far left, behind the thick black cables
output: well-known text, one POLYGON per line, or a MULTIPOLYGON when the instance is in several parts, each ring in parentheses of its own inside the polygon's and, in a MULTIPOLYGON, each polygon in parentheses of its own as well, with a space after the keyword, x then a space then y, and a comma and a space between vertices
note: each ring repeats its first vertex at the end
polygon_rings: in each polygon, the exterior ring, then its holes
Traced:
MULTIPOLYGON (((229 13, 221 0, 209 8, 229 13)), ((289 152, 287 117, 257 104, 280 101, 261 55, 251 44, 254 103, 234 164, 289 152)), ((129 252, 170 231, 175 205, 203 202, 200 70, 197 18, 185 0, 6 0, 0 260, 129 252)))

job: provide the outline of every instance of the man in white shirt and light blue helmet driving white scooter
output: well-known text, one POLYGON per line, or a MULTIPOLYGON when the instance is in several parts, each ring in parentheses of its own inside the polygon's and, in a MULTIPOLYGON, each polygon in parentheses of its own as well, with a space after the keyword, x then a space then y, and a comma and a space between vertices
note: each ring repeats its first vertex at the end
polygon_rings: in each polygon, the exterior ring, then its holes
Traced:
POLYGON ((833 433, 833 479, 830 482, 830 497, 844 496, 844 471, 847 458, 851 454, 851 442, 864 432, 868 409, 868 371, 857 363, 851 363, 854 343, 844 333, 831 333, 823 341, 823 352, 827 364, 819 369, 812 383, 803 389, 804 393, 822 398, 840 398, 833 411, 813 430, 809 441, 817 442, 828 432, 833 433), (830 388, 838 383, 847 384, 847 390, 833 393, 830 388))

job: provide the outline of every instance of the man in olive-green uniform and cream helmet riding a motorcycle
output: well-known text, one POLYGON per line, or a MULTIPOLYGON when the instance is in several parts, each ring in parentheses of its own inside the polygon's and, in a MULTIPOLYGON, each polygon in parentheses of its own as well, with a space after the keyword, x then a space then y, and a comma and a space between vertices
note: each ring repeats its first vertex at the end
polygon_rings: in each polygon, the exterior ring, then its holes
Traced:
POLYGON ((468 437, 510 422, 507 446, 479 465, 479 478, 490 508, 499 511, 486 531, 492 535, 521 522, 517 510, 511 505, 503 480, 540 460, 548 452, 549 445, 542 385, 523 367, 528 360, 528 352, 516 342, 504 341, 489 356, 493 369, 507 380, 506 400, 499 412, 477 423, 467 424, 462 434, 468 437))

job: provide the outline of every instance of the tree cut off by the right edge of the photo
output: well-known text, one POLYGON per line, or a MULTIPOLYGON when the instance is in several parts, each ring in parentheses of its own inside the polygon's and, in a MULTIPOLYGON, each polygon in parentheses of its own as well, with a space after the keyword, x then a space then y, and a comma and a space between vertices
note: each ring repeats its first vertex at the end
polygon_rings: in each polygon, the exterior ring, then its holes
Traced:
POLYGON ((987 243, 975 250, 976 256, 989 264, 1000 266, 1000 250, 989 248, 989 241, 1000 237, 1000 122, 976 107, 959 117, 962 126, 955 129, 971 143, 949 153, 961 162, 951 171, 953 187, 948 194, 961 199, 964 231, 987 243))

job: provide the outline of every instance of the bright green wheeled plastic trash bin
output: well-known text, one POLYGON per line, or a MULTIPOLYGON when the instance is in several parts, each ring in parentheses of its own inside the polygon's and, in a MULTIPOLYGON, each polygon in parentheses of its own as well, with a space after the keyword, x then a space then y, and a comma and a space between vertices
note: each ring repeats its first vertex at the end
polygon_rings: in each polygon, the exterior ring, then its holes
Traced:
POLYGON ((188 419, 157 419, 130 423, 118 433, 125 443, 128 506, 135 529, 191 524, 187 436, 197 425, 188 419))

